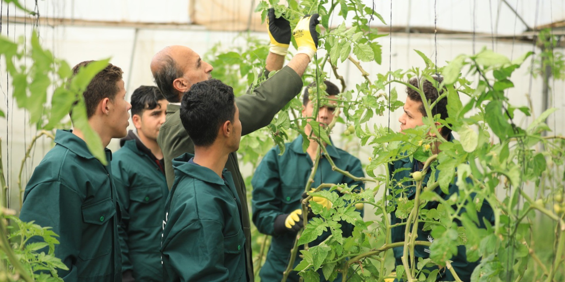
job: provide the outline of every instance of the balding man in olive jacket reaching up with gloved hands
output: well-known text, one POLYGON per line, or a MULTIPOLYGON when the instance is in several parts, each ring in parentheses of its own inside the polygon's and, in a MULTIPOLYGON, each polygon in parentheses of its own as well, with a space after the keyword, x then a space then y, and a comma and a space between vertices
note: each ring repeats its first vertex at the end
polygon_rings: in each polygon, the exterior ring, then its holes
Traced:
MULTIPOLYGON (((276 18, 271 9, 268 14, 268 32, 271 48, 267 56, 265 74, 279 70, 248 95, 236 98, 240 110, 242 135, 249 134, 267 126, 277 112, 296 96, 302 89, 302 74, 318 48, 318 14, 305 16, 294 29, 294 38, 298 45, 297 54, 286 67, 282 67, 290 44, 291 30, 288 21, 276 18)), ((214 69, 192 49, 185 46, 169 46, 158 52, 151 61, 151 72, 155 83, 169 101, 167 116, 160 127, 157 142, 162 148, 165 162, 167 184, 171 188, 175 174, 172 159, 183 153, 194 153, 194 144, 180 121, 180 100, 190 87, 200 81, 211 78, 214 69)), ((241 176, 237 155, 229 155, 225 168, 232 173, 237 195, 242 203, 241 222, 244 226, 246 280, 253 281, 253 262, 251 257, 251 232, 245 182, 241 176)), ((179 250, 182 252, 182 250, 179 250)), ((186 266, 190 267, 190 266, 186 266)))

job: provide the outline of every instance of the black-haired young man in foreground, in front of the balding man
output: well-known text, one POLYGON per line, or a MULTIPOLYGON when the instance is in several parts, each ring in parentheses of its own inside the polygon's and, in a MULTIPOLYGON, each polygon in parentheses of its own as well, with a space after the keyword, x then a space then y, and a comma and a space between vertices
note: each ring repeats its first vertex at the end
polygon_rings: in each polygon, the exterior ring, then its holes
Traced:
POLYGON ((180 107, 194 155, 173 160, 161 246, 163 276, 173 281, 248 281, 242 206, 224 166, 240 147, 233 89, 219 80, 194 84, 180 107))

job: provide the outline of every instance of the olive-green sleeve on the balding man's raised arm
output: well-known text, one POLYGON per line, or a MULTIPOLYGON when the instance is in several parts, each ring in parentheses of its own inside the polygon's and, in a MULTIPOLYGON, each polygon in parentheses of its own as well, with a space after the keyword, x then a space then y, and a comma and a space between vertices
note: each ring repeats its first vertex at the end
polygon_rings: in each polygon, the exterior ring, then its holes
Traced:
POLYGON ((302 78, 286 66, 268 78, 249 95, 236 98, 240 109, 241 134, 246 135, 267 126, 302 89, 302 78))

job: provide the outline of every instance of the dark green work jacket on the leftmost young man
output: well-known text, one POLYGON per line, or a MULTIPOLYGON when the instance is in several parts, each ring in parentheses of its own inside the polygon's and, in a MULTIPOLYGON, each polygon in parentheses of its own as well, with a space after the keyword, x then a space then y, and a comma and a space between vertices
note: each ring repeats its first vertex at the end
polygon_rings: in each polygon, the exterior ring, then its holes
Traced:
MULTIPOLYGON (((121 281, 121 215, 110 164, 102 165, 72 131, 57 130, 55 143, 25 187, 20 219, 59 235, 55 257, 69 268, 58 270, 65 282, 121 281)), ((106 158, 112 159, 108 149, 106 158)))

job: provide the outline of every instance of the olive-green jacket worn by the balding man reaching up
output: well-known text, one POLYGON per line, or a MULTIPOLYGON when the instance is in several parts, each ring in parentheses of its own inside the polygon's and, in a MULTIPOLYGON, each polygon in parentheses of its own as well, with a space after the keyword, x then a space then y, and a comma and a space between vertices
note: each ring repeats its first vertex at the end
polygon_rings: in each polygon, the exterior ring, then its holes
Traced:
MULTIPOLYGON (((275 73, 262 85, 255 88, 250 95, 241 95, 236 98, 237 107, 240 109, 241 134, 249 134, 261 127, 267 126, 275 114, 286 103, 296 96, 302 89, 302 79, 290 67, 284 67, 275 73)), ((183 153, 194 153, 194 144, 181 124, 179 105, 167 106, 166 120, 159 129, 157 142, 163 150, 167 184, 172 186, 175 174, 172 170, 171 160, 183 153)), ((246 239, 247 275, 253 281, 253 263, 251 262, 251 223, 247 210, 247 192, 245 181, 241 176, 240 166, 237 163, 237 154, 231 153, 225 168, 232 173, 236 185, 237 195, 241 199, 244 233, 246 239)))

